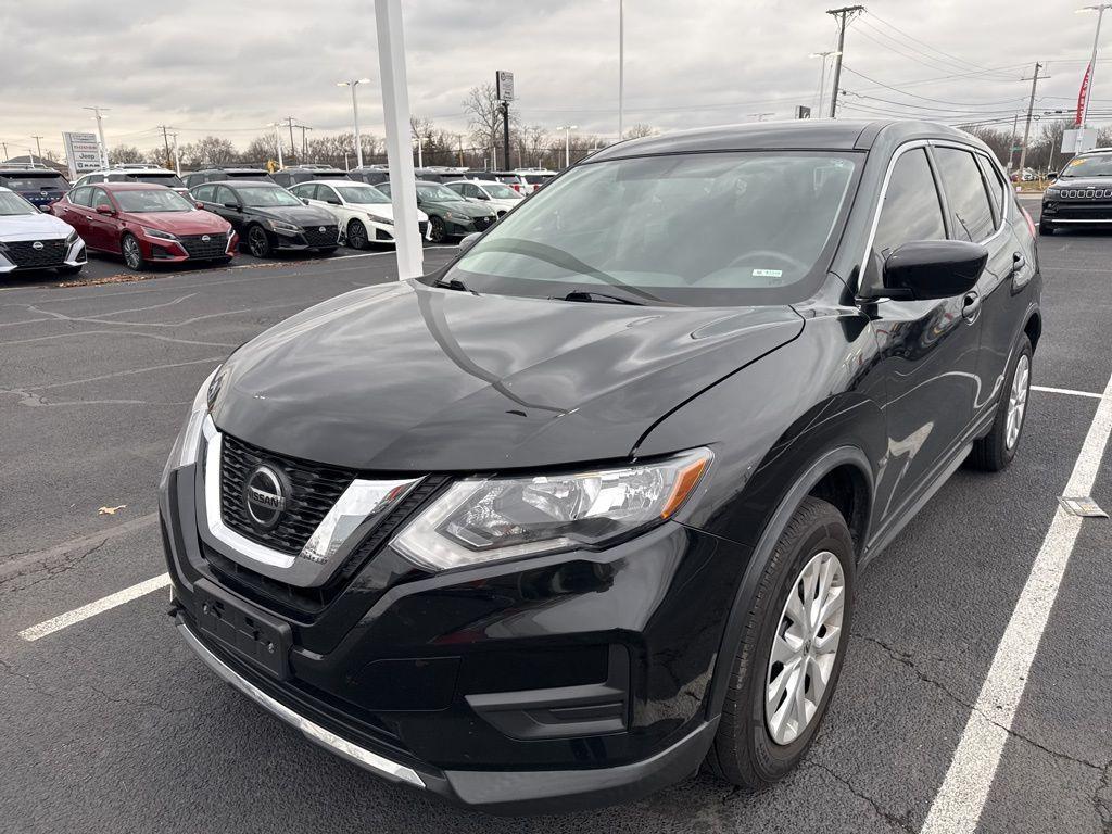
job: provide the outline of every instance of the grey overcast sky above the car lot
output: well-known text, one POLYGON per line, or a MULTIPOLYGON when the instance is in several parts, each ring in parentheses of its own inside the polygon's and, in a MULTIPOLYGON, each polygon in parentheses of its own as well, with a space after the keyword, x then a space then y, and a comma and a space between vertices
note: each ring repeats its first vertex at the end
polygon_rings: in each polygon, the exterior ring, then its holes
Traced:
MULTIPOLYGON (((1035 60, 1049 61, 1051 75, 1036 112, 1070 108, 1096 22, 1073 12, 1088 1, 866 2, 846 39, 853 71, 842 79, 860 96, 846 103, 858 109, 844 113, 997 118, 1010 128, 1012 113, 1025 110, 1030 81, 1021 79, 1035 60)), ((626 125, 788 118, 795 105, 814 105, 821 61, 807 54, 834 49, 836 27, 824 13, 833 4, 626 0, 626 125)), ((515 73, 524 123, 617 130, 618 0, 403 6, 414 115, 465 130, 468 88, 505 69, 515 73)), ((1112 112, 1112 16, 1104 33, 1093 109, 1112 112)), ((373 0, 7 0, 0 8, 0 140, 11 156, 33 147, 34 133, 60 152, 62 130, 93 128, 81 109, 89 105, 110 108, 109 147, 153 147, 161 123, 179 128, 182 142, 217 133, 238 147, 286 116, 318 135, 347 130, 350 99, 335 82, 364 76, 373 79, 359 88, 364 128, 380 135, 373 0)))

